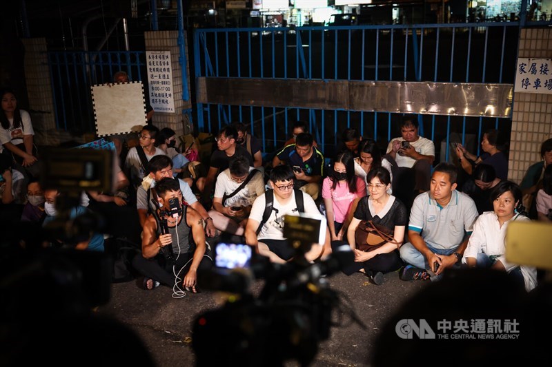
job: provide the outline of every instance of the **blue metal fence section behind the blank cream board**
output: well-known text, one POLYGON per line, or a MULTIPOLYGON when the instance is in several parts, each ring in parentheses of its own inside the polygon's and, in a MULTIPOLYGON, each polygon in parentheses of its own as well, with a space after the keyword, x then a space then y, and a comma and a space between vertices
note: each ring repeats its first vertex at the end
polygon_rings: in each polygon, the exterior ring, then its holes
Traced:
POLYGON ((90 87, 112 83, 113 74, 127 72, 147 90, 145 52, 48 52, 58 129, 95 132, 90 87))

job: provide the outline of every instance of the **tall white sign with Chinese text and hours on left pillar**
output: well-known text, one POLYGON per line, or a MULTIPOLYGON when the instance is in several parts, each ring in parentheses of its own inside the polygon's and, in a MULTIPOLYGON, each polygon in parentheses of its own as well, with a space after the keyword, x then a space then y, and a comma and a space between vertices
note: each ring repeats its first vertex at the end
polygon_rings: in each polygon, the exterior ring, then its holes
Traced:
POLYGON ((150 105, 155 112, 175 112, 170 51, 146 51, 150 105))

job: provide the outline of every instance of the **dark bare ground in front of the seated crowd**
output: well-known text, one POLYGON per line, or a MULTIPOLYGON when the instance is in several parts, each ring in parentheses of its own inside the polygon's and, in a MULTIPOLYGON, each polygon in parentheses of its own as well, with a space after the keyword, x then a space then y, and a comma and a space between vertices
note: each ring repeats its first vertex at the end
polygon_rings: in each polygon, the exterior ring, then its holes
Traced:
MULTIPOLYGON (((366 324, 366 330, 344 318, 345 326, 333 327, 331 336, 319 344, 313 366, 369 366, 375 337, 386 319, 428 282, 403 282, 398 273, 384 276, 376 286, 361 273, 328 277, 332 289, 348 295, 352 308, 366 324)), ((253 284, 258 291, 262 284, 253 284)), ((344 301, 344 297, 341 297, 344 301)), ((160 286, 152 291, 139 289, 136 282, 112 285, 110 302, 98 309, 99 315, 114 317, 130 326, 143 339, 157 366, 192 366, 192 322, 196 315, 221 304, 221 295, 205 291, 172 297, 172 289, 160 286)), ((335 311, 334 319, 340 311, 335 311)), ((216 347, 213 346, 216 353, 216 347)), ((292 364, 293 365, 293 364, 292 364)))

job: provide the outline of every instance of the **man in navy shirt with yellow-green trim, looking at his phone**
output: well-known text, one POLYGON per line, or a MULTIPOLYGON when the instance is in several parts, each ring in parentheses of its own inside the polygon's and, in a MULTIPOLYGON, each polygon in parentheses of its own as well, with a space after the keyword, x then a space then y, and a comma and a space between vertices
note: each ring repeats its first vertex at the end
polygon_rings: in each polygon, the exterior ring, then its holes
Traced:
POLYGON ((320 192, 319 185, 322 182, 324 156, 317 148, 313 147, 313 142, 311 134, 297 135, 295 144, 286 146, 276 154, 272 166, 288 165, 293 167, 295 187, 316 200, 320 192))

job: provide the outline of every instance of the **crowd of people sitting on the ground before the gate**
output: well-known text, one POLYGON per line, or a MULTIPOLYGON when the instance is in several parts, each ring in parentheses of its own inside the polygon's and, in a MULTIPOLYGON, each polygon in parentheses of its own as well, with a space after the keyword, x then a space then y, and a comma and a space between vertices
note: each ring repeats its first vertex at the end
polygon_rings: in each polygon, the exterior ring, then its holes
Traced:
MULTIPOLYGON (((121 162, 115 192, 84 193, 70 211, 70 217, 97 211, 111 222, 104 236, 91 231, 77 248, 101 251, 103 237, 126 238, 136 244, 132 263, 144 275, 144 289, 163 284, 195 293, 197 270, 210 266, 206 255, 221 238, 249 244, 273 262, 292 260, 284 216, 304 212, 326 216, 328 223, 326 241, 313 246, 306 259, 316 262, 332 248, 348 244, 355 262, 344 273, 364 273, 373 284, 382 284, 384 273, 397 270, 402 280, 439 280, 446 269, 464 264, 506 271, 526 290, 533 289, 535 269, 504 261, 507 224, 529 219, 522 205, 523 186, 505 180, 497 155, 507 151, 499 149, 496 133, 483 137, 489 158, 471 156, 459 147, 458 165, 433 167, 435 146, 418 134, 417 120, 406 116, 400 132, 380 151, 375 140, 347 129, 342 149, 326 167, 306 124, 296 123, 293 140, 276 150, 265 180, 267 166, 257 139, 246 125, 227 125, 215 138, 208 172, 199 185, 183 180, 188 162, 174 130, 146 125, 138 145, 121 162), (469 167, 466 158, 473 160, 469 167), (471 174, 471 191, 457 187, 459 170, 471 174), (122 199, 117 191, 125 187, 132 195, 122 199), (488 259, 480 260, 481 254, 488 259)), ((552 146, 544 145, 544 162, 531 167, 527 189, 536 197, 538 219, 549 221, 552 169, 547 155, 552 146)), ((55 220, 59 214, 53 204, 63 193, 44 190, 34 178, 24 180, 6 154, 0 157, 3 206, 21 205, 18 218, 28 222, 55 220)))

